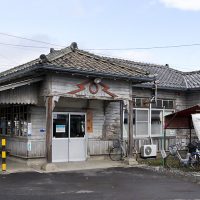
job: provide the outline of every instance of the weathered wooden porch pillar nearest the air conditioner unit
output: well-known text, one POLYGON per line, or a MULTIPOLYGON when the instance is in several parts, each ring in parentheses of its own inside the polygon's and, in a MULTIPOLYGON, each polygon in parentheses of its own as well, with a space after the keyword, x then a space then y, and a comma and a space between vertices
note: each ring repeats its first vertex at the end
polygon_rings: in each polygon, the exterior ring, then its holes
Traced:
POLYGON ((133 157, 133 101, 129 100, 128 105, 128 157, 133 157))

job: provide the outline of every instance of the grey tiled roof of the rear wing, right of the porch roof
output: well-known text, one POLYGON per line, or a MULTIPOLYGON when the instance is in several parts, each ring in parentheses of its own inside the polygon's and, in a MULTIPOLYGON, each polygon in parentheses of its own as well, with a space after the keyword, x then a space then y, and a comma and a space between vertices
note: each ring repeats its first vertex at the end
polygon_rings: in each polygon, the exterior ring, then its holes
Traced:
MULTIPOLYGON (((200 71, 194 72, 181 72, 170 68, 168 65, 155 65, 148 63, 135 62, 117 58, 107 58, 117 63, 126 63, 129 66, 137 67, 146 71, 150 74, 157 74, 156 79, 158 80, 158 87, 160 88, 171 88, 171 89, 191 89, 200 88, 200 71)), ((153 83, 142 83, 138 86, 152 86, 153 83)))

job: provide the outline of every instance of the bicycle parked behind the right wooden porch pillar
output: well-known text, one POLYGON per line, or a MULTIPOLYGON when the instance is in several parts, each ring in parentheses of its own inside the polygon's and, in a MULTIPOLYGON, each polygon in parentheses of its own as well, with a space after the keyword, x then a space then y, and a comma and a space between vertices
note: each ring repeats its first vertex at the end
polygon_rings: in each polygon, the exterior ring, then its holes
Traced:
MULTIPOLYGON (((128 141, 122 139, 115 139, 113 140, 113 146, 109 149, 109 157, 113 161, 120 161, 127 157, 127 146, 128 141)), ((137 151, 133 147, 132 151, 133 155, 136 157, 137 160, 137 151)))

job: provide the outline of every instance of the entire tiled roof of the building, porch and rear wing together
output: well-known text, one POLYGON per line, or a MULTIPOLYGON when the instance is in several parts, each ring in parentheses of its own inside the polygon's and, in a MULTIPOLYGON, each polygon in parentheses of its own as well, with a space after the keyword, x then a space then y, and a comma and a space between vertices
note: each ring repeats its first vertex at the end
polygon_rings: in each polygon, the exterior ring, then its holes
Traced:
MULTIPOLYGON (((72 43, 73 44, 73 43, 72 43)), ((77 45, 74 43, 75 46, 77 45)), ((164 65, 135 62, 130 60, 101 57, 71 45, 61 50, 52 50, 46 56, 23 65, 14 67, 0 73, 2 78, 15 75, 17 72, 24 72, 31 69, 42 68, 48 65, 51 69, 76 71, 79 73, 91 73, 130 79, 140 79, 142 84, 138 86, 152 87, 152 78, 156 76, 159 81, 158 87, 166 89, 200 89, 200 71, 181 72, 164 65), (147 80, 151 82, 146 82, 147 80)), ((76 73, 75 72, 75 73, 76 73)))

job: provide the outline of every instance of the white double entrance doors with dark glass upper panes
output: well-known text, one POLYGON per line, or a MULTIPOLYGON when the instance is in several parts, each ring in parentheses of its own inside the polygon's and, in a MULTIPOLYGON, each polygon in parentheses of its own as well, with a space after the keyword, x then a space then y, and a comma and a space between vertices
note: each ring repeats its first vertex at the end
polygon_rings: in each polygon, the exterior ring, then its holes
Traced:
POLYGON ((53 113, 52 162, 86 160, 85 113, 53 113))

